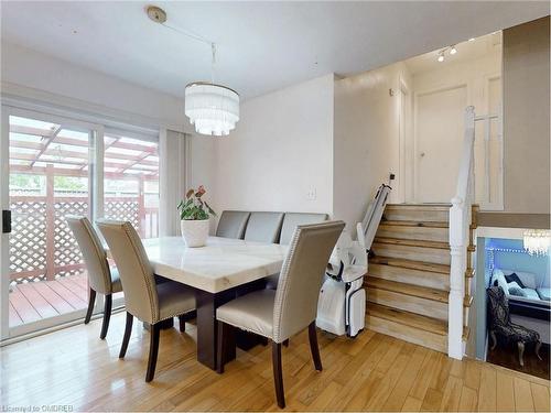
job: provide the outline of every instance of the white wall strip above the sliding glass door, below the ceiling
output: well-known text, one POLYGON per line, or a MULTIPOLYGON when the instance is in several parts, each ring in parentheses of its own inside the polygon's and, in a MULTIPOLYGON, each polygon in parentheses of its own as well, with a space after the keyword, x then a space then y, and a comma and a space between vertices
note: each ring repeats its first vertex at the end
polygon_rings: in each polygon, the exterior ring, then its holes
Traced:
POLYGON ((26 95, 138 126, 192 131, 184 119, 183 99, 36 51, 2 43, 1 75, 3 95, 26 95))

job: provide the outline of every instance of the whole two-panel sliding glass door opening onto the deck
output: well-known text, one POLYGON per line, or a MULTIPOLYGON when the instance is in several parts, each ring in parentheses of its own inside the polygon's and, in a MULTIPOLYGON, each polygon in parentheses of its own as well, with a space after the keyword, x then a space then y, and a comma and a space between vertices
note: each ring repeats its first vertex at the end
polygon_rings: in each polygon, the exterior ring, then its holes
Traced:
MULTIPOLYGON (((159 236, 158 135, 136 129, 2 106, 0 205, 11 231, 0 237, 1 339, 84 317, 86 265, 65 216, 159 236)), ((122 293, 114 298, 123 305, 122 293)), ((98 294, 95 312, 102 305, 98 294)))

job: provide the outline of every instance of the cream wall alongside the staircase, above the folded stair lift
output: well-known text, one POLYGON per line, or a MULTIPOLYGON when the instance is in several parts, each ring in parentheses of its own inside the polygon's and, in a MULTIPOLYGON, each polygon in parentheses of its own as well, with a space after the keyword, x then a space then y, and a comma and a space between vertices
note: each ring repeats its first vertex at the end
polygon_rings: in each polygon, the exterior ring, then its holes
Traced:
POLYGON ((348 228, 364 218, 377 187, 396 174, 390 202, 403 202, 400 164, 400 83, 411 81, 401 63, 335 83, 335 218, 348 228), (389 90, 392 89, 392 95, 389 90))

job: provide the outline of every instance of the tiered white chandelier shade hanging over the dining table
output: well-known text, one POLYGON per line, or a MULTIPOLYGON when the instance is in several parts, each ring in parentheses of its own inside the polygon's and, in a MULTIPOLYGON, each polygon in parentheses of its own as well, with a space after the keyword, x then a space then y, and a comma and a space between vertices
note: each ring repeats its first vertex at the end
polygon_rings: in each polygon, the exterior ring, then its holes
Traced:
POLYGON ((185 116, 201 134, 229 134, 239 121, 239 95, 229 87, 196 81, 185 87, 185 116))

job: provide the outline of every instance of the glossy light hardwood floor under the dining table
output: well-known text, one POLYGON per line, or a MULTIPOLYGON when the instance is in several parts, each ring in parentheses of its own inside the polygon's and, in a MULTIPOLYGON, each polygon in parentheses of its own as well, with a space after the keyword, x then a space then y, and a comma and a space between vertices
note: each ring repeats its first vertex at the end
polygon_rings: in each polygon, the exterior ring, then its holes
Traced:
MULTIPOLYGON (((225 373, 195 359, 195 327, 161 332, 155 379, 143 380, 149 333, 134 323, 118 359, 125 314, 0 349, 1 404, 66 404, 74 411, 278 411, 271 348, 238 351, 225 373)), ((323 372, 307 332, 283 347, 288 411, 549 411, 547 380, 445 355, 370 330, 357 339, 318 332, 323 372)))

